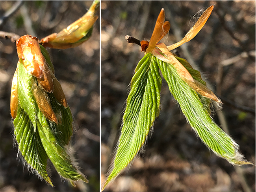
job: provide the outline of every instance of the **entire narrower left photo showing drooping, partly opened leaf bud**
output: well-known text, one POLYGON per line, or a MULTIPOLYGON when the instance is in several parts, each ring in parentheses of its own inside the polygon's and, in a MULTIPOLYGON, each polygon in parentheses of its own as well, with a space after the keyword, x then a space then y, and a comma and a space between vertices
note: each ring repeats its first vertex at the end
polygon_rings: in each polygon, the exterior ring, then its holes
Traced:
POLYGON ((0 2, 0 191, 100 190, 99 8, 0 2))

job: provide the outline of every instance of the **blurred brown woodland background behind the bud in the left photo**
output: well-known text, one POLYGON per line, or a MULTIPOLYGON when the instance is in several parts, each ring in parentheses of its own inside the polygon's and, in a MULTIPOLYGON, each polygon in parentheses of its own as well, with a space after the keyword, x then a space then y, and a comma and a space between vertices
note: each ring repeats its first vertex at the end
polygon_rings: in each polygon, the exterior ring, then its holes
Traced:
MULTIPOLYGON (((93 1, 1 1, 0 31, 33 35, 39 39, 58 33, 83 16, 93 1), (7 19, 9 11, 18 7, 7 19), (4 21, 4 22, 2 22, 4 21)), ((99 15, 99 11, 98 11, 99 15)), ((18 56, 15 43, 0 39, 0 192, 80 192, 100 190, 100 20, 92 37, 72 49, 50 49, 56 77, 60 81, 74 118, 70 148, 89 183, 71 187, 52 172, 55 187, 47 186, 17 159, 13 146, 10 91, 18 56)), ((54 170, 54 168, 53 168, 54 170)))

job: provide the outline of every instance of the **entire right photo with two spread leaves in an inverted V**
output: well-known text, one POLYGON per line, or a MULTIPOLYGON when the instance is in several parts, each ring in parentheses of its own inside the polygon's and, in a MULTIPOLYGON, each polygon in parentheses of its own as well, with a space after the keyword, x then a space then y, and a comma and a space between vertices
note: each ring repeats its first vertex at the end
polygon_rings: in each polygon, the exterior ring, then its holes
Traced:
POLYGON ((255 10, 100 2, 102 191, 255 191, 255 10))

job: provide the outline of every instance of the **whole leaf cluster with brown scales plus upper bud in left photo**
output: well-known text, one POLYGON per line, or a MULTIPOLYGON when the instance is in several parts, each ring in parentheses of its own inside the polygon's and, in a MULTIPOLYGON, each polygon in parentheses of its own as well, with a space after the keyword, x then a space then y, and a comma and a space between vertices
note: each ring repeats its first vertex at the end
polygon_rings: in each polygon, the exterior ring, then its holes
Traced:
MULTIPOLYGON (((58 34, 43 38, 40 43, 65 49, 88 40, 98 18, 94 15, 99 4, 99 1, 94 1, 82 18, 58 34)), ((88 183, 67 152, 66 146, 72 136, 72 114, 54 75, 49 53, 31 35, 20 37, 16 46, 19 61, 13 76, 10 106, 19 154, 24 157, 28 168, 50 185, 47 159, 72 185, 78 180, 88 183)))

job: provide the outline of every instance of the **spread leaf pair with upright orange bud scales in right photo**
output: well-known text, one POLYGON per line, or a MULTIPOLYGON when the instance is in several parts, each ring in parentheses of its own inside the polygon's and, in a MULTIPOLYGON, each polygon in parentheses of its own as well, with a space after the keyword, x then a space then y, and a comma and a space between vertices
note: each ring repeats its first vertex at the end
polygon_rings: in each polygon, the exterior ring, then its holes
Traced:
POLYGON ((158 43, 169 31, 162 9, 150 41, 141 41, 145 56, 139 61, 131 81, 126 101, 122 131, 115 159, 102 190, 134 159, 147 139, 153 122, 160 112, 161 76, 167 81, 170 92, 180 104, 187 121, 198 137, 216 155, 234 165, 250 164, 239 153, 239 146, 210 117, 210 104, 221 104, 219 98, 206 87, 200 72, 170 51, 190 41, 208 20, 213 5, 200 16, 186 36, 171 46, 158 43))

